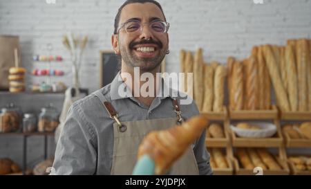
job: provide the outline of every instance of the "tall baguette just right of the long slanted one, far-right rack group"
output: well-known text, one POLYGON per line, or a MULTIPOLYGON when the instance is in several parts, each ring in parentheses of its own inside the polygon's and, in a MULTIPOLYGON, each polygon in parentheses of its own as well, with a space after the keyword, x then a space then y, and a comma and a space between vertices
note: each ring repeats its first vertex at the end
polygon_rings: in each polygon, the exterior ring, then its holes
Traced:
POLYGON ((298 110, 298 81, 297 81, 297 70, 294 57, 294 48, 288 44, 285 47, 285 64, 286 72, 288 75, 288 99, 290 101, 290 110, 298 110))

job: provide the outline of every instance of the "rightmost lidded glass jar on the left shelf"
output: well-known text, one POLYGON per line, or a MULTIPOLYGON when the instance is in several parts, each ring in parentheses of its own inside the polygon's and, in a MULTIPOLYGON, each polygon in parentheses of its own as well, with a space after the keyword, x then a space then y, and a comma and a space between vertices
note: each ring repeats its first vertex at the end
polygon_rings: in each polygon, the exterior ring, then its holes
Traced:
POLYGON ((54 132, 59 125, 59 113, 52 104, 41 109, 39 114, 38 131, 39 132, 54 132))

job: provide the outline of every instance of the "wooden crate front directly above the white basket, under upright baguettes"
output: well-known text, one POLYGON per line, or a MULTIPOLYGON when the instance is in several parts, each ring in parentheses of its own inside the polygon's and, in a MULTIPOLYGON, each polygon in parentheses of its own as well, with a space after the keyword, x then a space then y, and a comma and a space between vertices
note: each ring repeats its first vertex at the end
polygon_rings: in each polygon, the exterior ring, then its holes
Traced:
POLYGON ((279 118, 276 106, 270 110, 232 110, 229 109, 229 118, 237 120, 269 120, 279 118))

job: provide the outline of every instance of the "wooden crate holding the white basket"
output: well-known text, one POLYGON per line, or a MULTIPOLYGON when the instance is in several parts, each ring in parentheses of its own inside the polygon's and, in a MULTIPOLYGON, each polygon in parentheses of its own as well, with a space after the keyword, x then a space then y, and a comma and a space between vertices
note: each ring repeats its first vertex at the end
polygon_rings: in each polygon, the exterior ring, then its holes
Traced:
MULTIPOLYGON (((227 122, 229 124, 229 122, 227 122)), ((234 147, 281 147, 283 145, 283 136, 278 120, 274 120, 276 125, 276 134, 271 138, 241 138, 229 129, 230 136, 232 138, 232 145, 234 147)), ((229 128, 229 125, 227 125, 229 128)))

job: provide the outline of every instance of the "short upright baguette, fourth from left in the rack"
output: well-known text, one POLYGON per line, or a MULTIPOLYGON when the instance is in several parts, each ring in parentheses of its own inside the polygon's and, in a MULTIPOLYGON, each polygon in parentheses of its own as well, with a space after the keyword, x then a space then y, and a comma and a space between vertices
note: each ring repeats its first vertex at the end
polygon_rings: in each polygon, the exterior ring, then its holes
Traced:
POLYGON ((214 103, 214 69, 209 65, 204 65, 204 100, 202 112, 212 111, 214 103))

